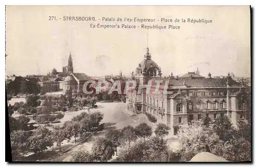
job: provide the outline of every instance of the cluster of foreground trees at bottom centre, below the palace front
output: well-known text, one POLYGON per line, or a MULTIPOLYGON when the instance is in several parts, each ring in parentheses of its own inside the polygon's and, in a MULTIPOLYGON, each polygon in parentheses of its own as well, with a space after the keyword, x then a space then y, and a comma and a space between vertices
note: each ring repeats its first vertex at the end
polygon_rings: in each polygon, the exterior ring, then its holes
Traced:
POLYGON ((125 126, 122 129, 109 130, 105 137, 96 139, 91 152, 75 152, 70 161, 109 161, 115 153, 118 157, 114 161, 166 160, 170 150, 163 137, 168 134, 168 128, 164 124, 158 124, 155 134, 156 136, 152 136, 152 128, 146 123, 141 123, 135 128, 125 126), (118 147, 121 147, 119 153, 118 147))

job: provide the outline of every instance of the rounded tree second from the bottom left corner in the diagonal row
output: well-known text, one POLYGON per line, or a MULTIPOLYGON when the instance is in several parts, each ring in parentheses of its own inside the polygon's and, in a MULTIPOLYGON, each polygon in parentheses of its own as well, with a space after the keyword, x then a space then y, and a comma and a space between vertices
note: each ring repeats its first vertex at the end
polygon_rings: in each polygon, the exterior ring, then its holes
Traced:
POLYGON ((29 138, 29 150, 35 154, 53 146, 52 133, 49 129, 39 126, 29 138))

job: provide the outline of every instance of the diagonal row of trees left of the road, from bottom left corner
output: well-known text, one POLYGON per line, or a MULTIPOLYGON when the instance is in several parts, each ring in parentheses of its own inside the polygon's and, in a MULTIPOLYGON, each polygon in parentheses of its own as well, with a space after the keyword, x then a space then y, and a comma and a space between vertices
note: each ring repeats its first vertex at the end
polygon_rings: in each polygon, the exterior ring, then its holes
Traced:
POLYGON ((65 122, 62 126, 54 126, 52 130, 44 126, 38 126, 34 131, 10 127, 12 158, 13 160, 19 160, 31 152, 40 154, 42 151, 52 147, 54 142, 56 142, 57 146, 59 146, 59 151, 61 151, 63 140, 70 140, 74 137, 76 143, 78 136, 87 136, 88 132, 98 129, 102 118, 103 114, 99 111, 92 113, 84 112, 74 117, 72 121, 65 122))

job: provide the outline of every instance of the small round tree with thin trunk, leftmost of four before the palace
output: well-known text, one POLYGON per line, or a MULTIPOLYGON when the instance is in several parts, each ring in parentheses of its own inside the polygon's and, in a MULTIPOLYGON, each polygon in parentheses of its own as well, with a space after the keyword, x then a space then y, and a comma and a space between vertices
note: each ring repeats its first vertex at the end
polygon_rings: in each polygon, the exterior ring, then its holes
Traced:
POLYGON ((115 130, 109 130, 108 133, 105 135, 106 140, 109 140, 112 142, 113 146, 116 149, 116 155, 117 155, 117 147, 121 145, 122 142, 122 132, 118 129, 115 130))

